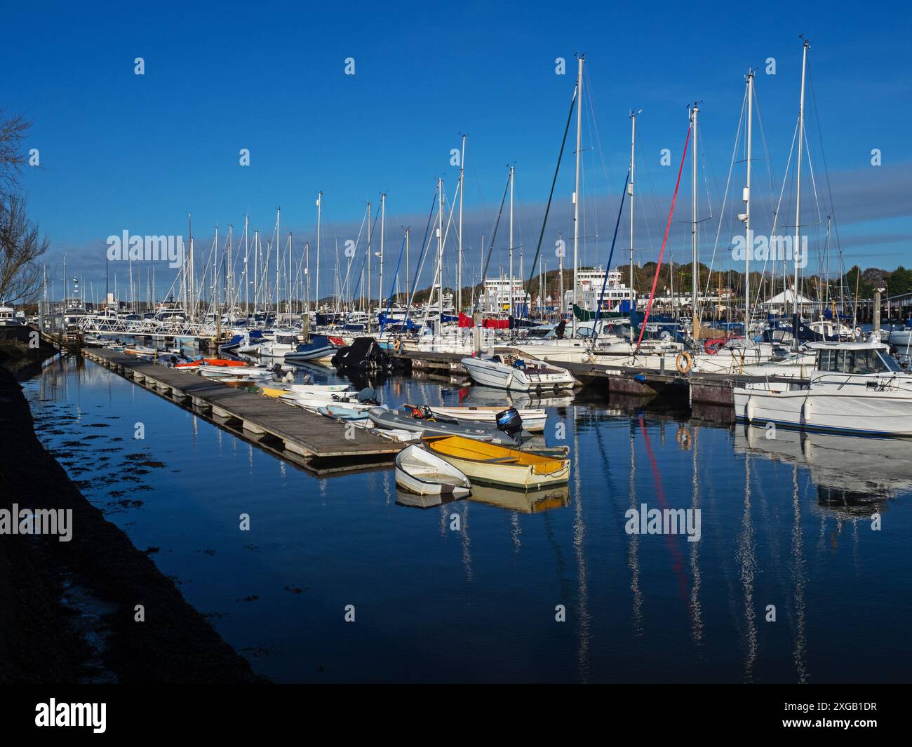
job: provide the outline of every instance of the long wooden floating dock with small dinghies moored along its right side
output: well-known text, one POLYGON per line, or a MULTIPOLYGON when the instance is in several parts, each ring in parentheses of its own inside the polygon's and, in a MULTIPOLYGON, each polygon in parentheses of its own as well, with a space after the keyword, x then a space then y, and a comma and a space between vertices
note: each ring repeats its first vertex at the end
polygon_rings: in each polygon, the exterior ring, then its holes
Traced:
POLYGON ((389 466, 408 445, 362 428, 346 428, 331 418, 188 370, 167 368, 105 348, 83 348, 82 355, 266 451, 319 474, 389 466))

